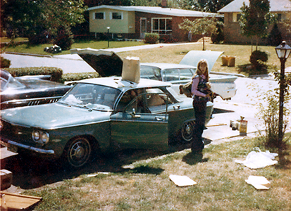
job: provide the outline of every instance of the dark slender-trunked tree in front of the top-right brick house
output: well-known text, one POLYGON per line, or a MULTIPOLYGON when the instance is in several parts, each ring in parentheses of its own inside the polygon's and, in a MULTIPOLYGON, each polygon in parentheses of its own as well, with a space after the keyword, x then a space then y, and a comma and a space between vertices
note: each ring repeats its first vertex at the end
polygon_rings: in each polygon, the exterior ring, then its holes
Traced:
POLYGON ((272 20, 269 13, 270 2, 268 0, 250 0, 249 6, 243 3, 240 9, 242 11, 239 20, 241 34, 246 37, 255 37, 257 50, 259 38, 267 36, 268 25, 272 20))

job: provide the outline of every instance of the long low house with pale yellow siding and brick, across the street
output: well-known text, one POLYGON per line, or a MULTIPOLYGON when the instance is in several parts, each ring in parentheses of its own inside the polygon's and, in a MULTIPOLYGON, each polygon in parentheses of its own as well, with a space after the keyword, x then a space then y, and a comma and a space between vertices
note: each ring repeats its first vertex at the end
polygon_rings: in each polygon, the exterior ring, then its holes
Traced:
POLYGON ((217 13, 204 13, 176 8, 167 8, 166 1, 162 7, 150 6, 94 6, 89 11, 89 32, 95 36, 106 34, 120 39, 144 39, 145 33, 158 33, 175 41, 194 41, 179 24, 184 18, 194 20, 203 17, 223 17, 217 13))

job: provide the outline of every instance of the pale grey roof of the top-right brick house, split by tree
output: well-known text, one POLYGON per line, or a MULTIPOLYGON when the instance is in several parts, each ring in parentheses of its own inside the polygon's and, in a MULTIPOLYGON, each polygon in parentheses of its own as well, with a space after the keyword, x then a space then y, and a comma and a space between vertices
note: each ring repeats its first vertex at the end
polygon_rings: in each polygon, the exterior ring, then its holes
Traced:
MULTIPOLYGON (((291 1, 290 0, 269 0, 270 1, 270 11, 275 12, 291 12, 291 1)), ((249 6, 249 0, 235 0, 230 2, 230 4, 221 8, 218 13, 240 13, 240 8, 242 4, 249 6)))

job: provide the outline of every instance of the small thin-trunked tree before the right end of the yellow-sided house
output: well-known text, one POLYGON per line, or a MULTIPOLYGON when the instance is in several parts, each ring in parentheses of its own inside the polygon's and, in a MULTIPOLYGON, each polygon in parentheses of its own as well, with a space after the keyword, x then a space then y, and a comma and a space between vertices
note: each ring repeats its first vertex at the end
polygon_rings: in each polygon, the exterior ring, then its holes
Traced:
POLYGON ((185 18, 179 28, 192 34, 201 34, 203 38, 203 51, 205 51, 204 36, 216 32, 216 17, 197 18, 196 20, 189 20, 185 18))

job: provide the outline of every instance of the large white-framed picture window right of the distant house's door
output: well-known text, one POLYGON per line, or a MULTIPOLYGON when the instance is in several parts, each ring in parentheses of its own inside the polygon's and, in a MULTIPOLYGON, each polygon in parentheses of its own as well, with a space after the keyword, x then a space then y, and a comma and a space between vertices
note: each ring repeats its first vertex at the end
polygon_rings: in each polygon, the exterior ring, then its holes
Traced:
POLYGON ((172 18, 152 18, 151 32, 161 35, 172 34, 172 18))

